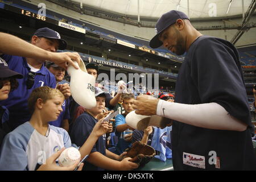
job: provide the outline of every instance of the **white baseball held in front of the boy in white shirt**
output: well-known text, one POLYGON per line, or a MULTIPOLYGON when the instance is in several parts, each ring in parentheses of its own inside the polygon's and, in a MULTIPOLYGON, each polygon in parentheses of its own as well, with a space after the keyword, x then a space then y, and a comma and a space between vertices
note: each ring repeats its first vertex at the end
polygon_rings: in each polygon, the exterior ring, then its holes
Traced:
POLYGON ((81 154, 79 150, 75 147, 66 148, 63 152, 61 152, 58 160, 60 166, 71 166, 75 164, 77 160, 81 158, 81 154))

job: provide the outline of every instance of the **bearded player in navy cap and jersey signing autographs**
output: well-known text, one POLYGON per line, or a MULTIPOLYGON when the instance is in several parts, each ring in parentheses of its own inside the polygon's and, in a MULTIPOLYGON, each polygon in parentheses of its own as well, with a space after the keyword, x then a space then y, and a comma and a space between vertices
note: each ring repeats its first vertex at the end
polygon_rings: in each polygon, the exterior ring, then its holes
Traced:
POLYGON ((174 119, 175 170, 255 170, 250 109, 237 49, 202 35, 181 11, 163 14, 150 47, 163 45, 185 59, 175 102, 139 96, 135 113, 174 119))

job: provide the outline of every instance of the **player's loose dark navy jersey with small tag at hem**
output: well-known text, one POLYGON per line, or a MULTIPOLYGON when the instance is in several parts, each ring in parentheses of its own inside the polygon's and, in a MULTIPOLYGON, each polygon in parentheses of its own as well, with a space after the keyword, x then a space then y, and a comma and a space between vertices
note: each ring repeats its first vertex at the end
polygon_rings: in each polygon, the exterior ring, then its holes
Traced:
POLYGON ((239 55, 233 44, 210 36, 195 40, 179 70, 175 102, 216 102, 249 126, 238 132, 174 121, 171 142, 174 169, 256 169, 250 109, 239 55), (213 154, 217 155, 217 164, 209 163, 213 154))

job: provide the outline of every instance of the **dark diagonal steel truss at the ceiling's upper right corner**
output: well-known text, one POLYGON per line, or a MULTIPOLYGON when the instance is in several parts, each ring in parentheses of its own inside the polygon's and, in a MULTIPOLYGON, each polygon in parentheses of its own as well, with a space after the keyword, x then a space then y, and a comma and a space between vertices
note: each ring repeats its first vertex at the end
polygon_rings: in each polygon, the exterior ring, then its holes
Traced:
POLYGON ((238 32, 236 33, 236 35, 234 35, 234 37, 232 38, 232 40, 230 41, 232 44, 236 44, 237 41, 241 38, 241 36, 248 31, 249 29, 245 28, 250 20, 250 16, 254 13, 256 9, 256 0, 251 1, 250 6, 248 7, 245 15, 243 16, 243 20, 242 20, 242 26, 240 28, 240 30, 238 30, 238 32))

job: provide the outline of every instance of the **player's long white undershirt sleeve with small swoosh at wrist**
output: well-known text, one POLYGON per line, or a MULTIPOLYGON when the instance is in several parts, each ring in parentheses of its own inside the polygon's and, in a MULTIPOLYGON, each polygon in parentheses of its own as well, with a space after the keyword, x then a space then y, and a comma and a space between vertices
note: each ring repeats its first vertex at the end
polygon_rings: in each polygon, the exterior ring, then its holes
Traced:
POLYGON ((247 128, 215 102, 189 105, 159 100, 156 114, 207 129, 244 131, 247 128))

